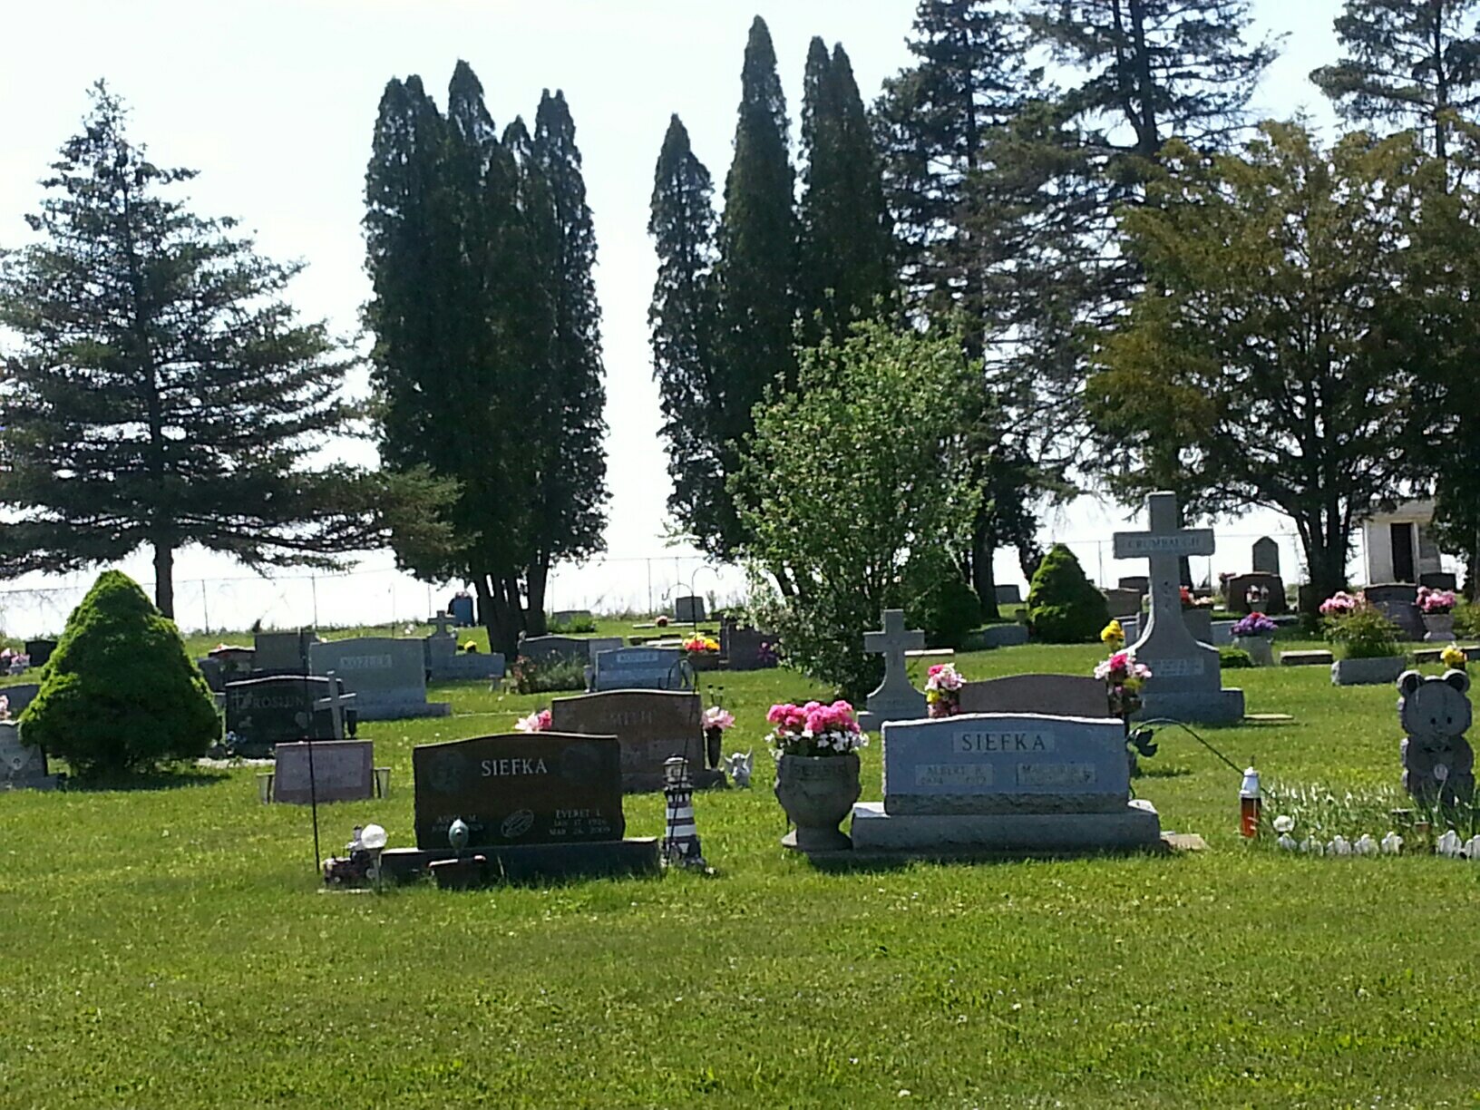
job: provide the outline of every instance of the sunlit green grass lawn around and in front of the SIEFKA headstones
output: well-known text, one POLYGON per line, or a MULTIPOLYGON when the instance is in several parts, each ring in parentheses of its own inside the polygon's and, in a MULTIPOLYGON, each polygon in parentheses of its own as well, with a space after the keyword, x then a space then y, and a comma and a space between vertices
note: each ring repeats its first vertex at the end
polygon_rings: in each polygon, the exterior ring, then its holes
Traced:
MULTIPOLYGON (((1480 867, 1251 850, 1237 777, 1163 733, 1137 790, 1206 852, 821 873, 778 845, 762 734, 774 700, 823 691, 700 678, 740 718, 727 750, 758 756, 755 789, 696 801, 715 878, 320 894, 308 811, 259 805, 253 768, 0 795, 0 1106, 1480 1101, 1480 867)), ((1225 681, 1295 716, 1209 730, 1236 762, 1397 781, 1391 688, 1336 690, 1322 667, 1225 681)), ((546 703, 431 696, 456 716, 363 728, 392 796, 323 807, 326 850, 370 820, 410 844, 413 744, 546 703)), ((876 746, 863 777, 879 798, 876 746)), ((626 814, 660 833, 660 796, 626 814)))

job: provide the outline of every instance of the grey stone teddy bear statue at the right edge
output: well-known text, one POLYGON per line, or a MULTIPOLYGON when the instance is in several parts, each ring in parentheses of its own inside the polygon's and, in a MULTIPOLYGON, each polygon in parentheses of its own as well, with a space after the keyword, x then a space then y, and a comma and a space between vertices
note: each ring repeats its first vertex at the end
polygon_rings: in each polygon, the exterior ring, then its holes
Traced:
POLYGON ((1406 670, 1397 681, 1403 725, 1403 789, 1422 805, 1470 804, 1476 792, 1476 756, 1465 740, 1470 728, 1470 675, 1449 670, 1424 678, 1406 670))

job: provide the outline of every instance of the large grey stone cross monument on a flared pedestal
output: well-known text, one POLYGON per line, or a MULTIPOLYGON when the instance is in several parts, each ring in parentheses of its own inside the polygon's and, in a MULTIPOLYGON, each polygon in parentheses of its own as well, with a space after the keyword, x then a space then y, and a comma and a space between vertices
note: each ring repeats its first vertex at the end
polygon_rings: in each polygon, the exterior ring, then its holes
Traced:
POLYGON ((1243 719, 1243 691, 1224 690, 1218 648, 1199 644, 1183 619, 1181 559, 1212 555, 1212 528, 1183 528, 1177 494, 1146 499, 1148 531, 1117 531, 1117 559, 1150 559, 1151 613, 1132 645, 1138 663, 1151 669, 1143 693, 1141 718, 1169 716, 1203 724, 1243 719))

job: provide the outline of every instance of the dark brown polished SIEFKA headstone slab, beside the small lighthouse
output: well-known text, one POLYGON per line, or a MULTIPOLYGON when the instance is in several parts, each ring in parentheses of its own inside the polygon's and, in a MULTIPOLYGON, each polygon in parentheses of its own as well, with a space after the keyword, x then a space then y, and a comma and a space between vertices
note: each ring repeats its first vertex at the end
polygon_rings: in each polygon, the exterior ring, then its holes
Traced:
POLYGON ((514 733, 411 750, 416 845, 447 848, 454 820, 471 848, 620 841, 622 753, 611 736, 514 733))

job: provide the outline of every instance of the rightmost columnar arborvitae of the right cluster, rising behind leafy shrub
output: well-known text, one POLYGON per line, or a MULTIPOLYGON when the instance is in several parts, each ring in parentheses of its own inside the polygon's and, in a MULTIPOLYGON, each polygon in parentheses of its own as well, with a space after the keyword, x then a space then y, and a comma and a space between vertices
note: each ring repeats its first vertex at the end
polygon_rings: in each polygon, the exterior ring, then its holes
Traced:
POLYGON ((894 289, 879 155, 842 44, 813 38, 802 86, 796 296, 805 343, 842 336, 894 289))

